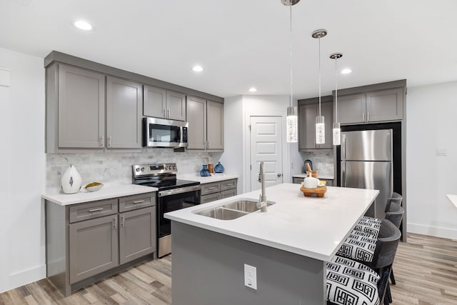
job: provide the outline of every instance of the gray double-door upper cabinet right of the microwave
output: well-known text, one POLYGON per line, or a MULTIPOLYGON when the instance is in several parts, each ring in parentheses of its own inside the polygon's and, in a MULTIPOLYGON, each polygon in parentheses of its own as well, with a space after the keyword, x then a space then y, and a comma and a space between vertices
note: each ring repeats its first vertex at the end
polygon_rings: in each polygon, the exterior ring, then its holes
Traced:
POLYGON ((187 96, 187 149, 224 150, 224 104, 187 96))

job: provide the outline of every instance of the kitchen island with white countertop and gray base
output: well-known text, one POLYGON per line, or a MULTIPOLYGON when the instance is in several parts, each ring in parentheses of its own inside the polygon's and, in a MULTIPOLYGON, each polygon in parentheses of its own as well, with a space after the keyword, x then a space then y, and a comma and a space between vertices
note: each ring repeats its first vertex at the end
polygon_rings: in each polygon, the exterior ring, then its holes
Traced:
POLYGON ((232 220, 199 211, 260 190, 165 214, 171 219, 175 305, 324 304, 325 261, 343 244, 378 191, 328 187, 303 197, 297 184, 266 189, 268 211, 232 220), (256 267, 256 289, 244 286, 244 264, 256 267))

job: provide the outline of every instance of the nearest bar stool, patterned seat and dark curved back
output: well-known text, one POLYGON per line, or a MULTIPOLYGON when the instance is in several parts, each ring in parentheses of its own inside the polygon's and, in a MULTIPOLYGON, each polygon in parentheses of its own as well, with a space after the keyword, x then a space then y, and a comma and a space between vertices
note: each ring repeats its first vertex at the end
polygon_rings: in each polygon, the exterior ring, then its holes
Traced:
POLYGON ((341 256, 326 263, 327 304, 388 304, 388 276, 401 233, 391 221, 383 220, 379 234, 382 237, 376 241, 373 260, 368 265, 341 256))

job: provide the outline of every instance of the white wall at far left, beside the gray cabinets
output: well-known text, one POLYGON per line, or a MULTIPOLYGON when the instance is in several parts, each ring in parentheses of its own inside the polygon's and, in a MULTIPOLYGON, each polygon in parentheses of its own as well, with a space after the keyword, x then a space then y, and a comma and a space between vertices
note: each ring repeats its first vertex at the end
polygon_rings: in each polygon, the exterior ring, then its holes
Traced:
POLYGON ((0 292, 46 276, 43 59, 0 48, 0 292))

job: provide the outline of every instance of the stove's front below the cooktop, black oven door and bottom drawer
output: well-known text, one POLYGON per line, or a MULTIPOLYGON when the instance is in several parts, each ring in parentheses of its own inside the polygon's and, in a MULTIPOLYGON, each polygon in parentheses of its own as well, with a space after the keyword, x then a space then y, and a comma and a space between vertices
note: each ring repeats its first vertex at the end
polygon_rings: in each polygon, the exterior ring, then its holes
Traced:
POLYGON ((200 186, 189 186, 192 191, 179 194, 167 194, 169 191, 159 191, 158 219, 157 219, 157 252, 159 257, 171 253, 171 220, 164 217, 165 213, 188 208, 200 204, 200 186))

